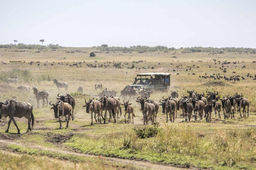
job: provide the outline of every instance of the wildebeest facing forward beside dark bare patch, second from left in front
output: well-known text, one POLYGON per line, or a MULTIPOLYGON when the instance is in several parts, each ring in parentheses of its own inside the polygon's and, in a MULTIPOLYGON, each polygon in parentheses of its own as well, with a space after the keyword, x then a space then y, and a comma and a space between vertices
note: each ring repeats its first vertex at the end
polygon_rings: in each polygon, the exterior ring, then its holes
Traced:
POLYGON ((63 118, 63 116, 65 116, 65 118, 67 120, 67 126, 66 127, 68 128, 68 123, 69 123, 70 116, 71 116, 71 111, 72 111, 71 105, 68 104, 68 103, 62 102, 61 100, 58 100, 55 104, 51 104, 51 101, 50 101, 50 105, 53 106, 51 109, 54 110, 55 118, 59 117, 60 129, 63 129, 62 128, 62 118, 63 118))

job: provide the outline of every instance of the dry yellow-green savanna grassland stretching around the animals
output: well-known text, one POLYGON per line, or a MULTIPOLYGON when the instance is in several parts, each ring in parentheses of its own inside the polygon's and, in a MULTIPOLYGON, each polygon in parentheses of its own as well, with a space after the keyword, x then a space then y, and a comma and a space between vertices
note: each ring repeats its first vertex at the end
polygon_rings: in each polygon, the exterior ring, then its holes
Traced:
MULTIPOLYGON (((95 53, 95 57, 89 57, 90 52, 95 50, 93 48, 60 48, 56 51, 44 50, 35 53, 37 50, 11 52, 11 49, 0 49, 0 61, 6 63, 0 63, 1 101, 11 98, 28 101, 33 104, 35 115, 34 130, 28 134, 25 134, 27 128, 25 118, 16 118, 21 134, 16 134, 17 129, 13 123, 10 126, 10 133, 4 133, 7 122, 0 124, 2 148, 0 157, 3 160, 0 167, 3 169, 256 168, 256 89, 254 88, 256 81, 246 77, 248 73, 253 77, 256 74, 256 63, 253 63, 256 60, 256 54, 213 55, 181 53, 182 50, 175 50, 169 53, 95 53), (87 53, 66 53, 65 50, 83 50, 87 53), (214 59, 217 60, 216 64, 213 62, 214 59), (143 62, 134 63, 141 60, 143 62), (10 63, 10 61, 21 61, 21 63, 10 63), (35 63, 28 64, 31 61, 35 63), (37 61, 40 63, 36 63, 37 61), (218 61, 231 63, 222 67, 218 61), (78 67, 69 66, 78 62, 82 62, 78 67), (115 69, 113 63, 120 62, 121 69, 115 69), (124 64, 125 62, 128 64, 124 64), (97 67, 88 67, 87 64, 97 67), (98 64, 109 66, 99 68, 98 64), (132 65, 134 65, 133 69, 127 69, 132 65), (242 69, 243 66, 245 66, 244 69, 242 69), (220 67, 226 68, 227 73, 223 73, 220 67), (163 115, 162 109, 159 109, 157 114, 159 125, 147 126, 147 132, 154 131, 155 135, 141 139, 135 130, 143 128, 143 116, 140 106, 132 99, 130 103, 135 109, 136 116, 134 124, 125 124, 123 113, 116 124, 99 124, 93 120, 94 124, 90 125, 91 114, 87 114, 82 106, 84 99, 89 100, 99 93, 95 91, 94 84, 101 82, 103 88, 116 90, 119 97, 120 91, 126 84, 132 84, 136 74, 142 72, 171 73, 170 90, 178 90, 180 96, 187 95, 187 90, 193 89, 198 93, 215 90, 221 97, 242 92, 244 97, 250 100, 249 117, 241 118, 238 113, 235 113, 235 118, 224 120, 221 111, 221 119, 215 118, 215 114, 212 113, 211 123, 206 123, 205 119, 194 121, 194 117, 192 121, 185 122, 180 115, 181 111, 178 111, 175 122, 166 123, 166 116, 163 115), (245 80, 199 78, 199 75, 202 76, 205 73, 207 75, 220 73, 221 76, 227 77, 240 75, 245 80), (16 75, 19 75, 18 83, 7 85, 6 80, 16 75), (20 85, 31 88, 36 86, 39 91, 46 90, 50 93, 50 101, 57 101, 59 91, 53 84, 54 78, 69 84, 68 91, 60 89, 60 94, 65 95, 68 92, 76 98, 75 120, 70 121, 68 129, 59 130, 59 123, 54 118, 50 106, 41 108, 42 100, 39 104, 40 108, 36 108, 33 91, 28 93, 17 89, 20 85), (75 94, 79 86, 83 87, 83 94, 75 94), (90 155, 101 157, 90 157, 90 155), (123 161, 115 158, 121 158, 123 161), (126 159, 137 161, 127 162, 126 159), (11 162, 7 163, 7 160, 11 162), (26 161, 26 164, 23 164, 23 161, 26 161)), ((154 92, 150 98, 159 101, 163 96, 169 96, 170 90, 154 92)))

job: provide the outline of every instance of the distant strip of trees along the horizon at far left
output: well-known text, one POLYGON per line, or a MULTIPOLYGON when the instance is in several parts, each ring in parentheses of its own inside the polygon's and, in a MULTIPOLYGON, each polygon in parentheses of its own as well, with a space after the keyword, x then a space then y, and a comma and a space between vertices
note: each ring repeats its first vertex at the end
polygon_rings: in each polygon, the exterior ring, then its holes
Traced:
POLYGON ((6 45, 0 45, 0 48, 18 48, 18 49, 58 49, 61 46, 59 46, 58 44, 54 45, 54 44, 49 44, 47 46, 41 46, 41 45, 37 45, 37 44, 22 44, 19 43, 18 45, 14 45, 14 44, 6 44, 6 45))

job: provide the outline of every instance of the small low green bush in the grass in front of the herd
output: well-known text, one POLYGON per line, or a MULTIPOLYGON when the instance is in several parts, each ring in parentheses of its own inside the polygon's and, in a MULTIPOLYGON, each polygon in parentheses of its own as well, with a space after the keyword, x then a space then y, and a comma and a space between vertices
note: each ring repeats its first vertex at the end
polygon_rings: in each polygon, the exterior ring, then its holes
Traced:
POLYGON ((133 129, 140 139, 145 138, 152 138, 159 132, 158 124, 155 124, 154 126, 141 126, 139 128, 133 129))

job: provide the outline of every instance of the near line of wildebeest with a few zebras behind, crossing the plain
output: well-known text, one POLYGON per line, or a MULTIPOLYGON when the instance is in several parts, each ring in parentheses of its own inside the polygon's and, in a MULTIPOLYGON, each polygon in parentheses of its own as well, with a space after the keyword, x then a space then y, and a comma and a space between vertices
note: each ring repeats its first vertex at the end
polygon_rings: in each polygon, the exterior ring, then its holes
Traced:
MULTIPOLYGON (((65 88, 67 90, 68 84, 67 83, 59 83, 56 79, 53 79, 54 83, 56 84, 57 88, 65 88)), ((29 87, 23 86, 23 88, 30 90, 29 87)), ((81 87, 79 87, 81 90, 81 87)), ((79 89, 78 88, 78 89, 79 89)), ((102 89, 102 83, 96 83, 95 89, 102 89)), ((34 94, 36 95, 37 100, 37 108, 39 108, 39 99, 43 100, 43 107, 45 106, 45 99, 46 99, 46 106, 48 104, 49 92, 47 91, 38 91, 37 87, 33 87, 34 94)), ((247 116, 249 116, 249 100, 243 97, 243 94, 235 93, 234 95, 222 97, 219 96, 219 92, 216 91, 205 91, 202 94, 195 92, 194 90, 187 90, 187 95, 183 95, 180 99, 178 90, 172 91, 169 97, 162 97, 157 101, 150 99, 147 96, 147 90, 142 90, 142 95, 139 95, 138 90, 133 90, 129 86, 126 86, 124 90, 121 91, 121 96, 123 98, 123 103, 121 102, 120 98, 116 97, 116 91, 114 90, 103 90, 99 97, 100 99, 89 99, 83 107, 86 107, 86 113, 91 113, 91 124, 93 124, 93 114, 95 122, 99 123, 106 123, 107 121, 107 111, 109 113, 108 122, 111 120, 116 123, 117 119, 120 119, 122 116, 122 108, 121 105, 124 106, 124 121, 125 123, 130 123, 132 118, 135 117, 134 108, 132 103, 125 101, 126 97, 129 96, 130 99, 133 97, 137 97, 135 100, 140 105, 140 111, 143 115, 143 124, 154 124, 157 122, 157 113, 159 107, 162 106, 162 112, 166 115, 166 122, 170 120, 174 122, 175 118, 177 118, 177 111, 182 111, 182 117, 185 118, 185 121, 190 121, 191 117, 193 116, 195 121, 199 117, 199 120, 203 120, 205 118, 206 122, 211 122, 211 114, 215 113, 215 117, 221 118, 221 108, 223 111, 223 117, 225 119, 233 118, 234 113, 240 114, 241 117, 246 117, 246 106, 247 106, 247 116), (123 92, 122 92, 123 91, 123 92), (126 94, 124 95, 124 91, 126 94), (139 97, 138 97, 139 95, 139 97), (243 109, 243 115, 241 113, 241 108, 243 109), (105 111, 103 115, 102 112, 105 111), (218 115, 217 115, 218 113, 218 115), (128 115, 126 121, 126 114, 128 115), (169 116, 169 118, 168 118, 169 116)), ((150 94, 150 92, 149 92, 150 94)), ((54 110, 55 118, 59 118, 60 129, 62 128, 62 119, 65 117, 65 121, 67 121, 66 127, 68 128, 69 121, 72 119, 74 120, 74 109, 75 109, 75 98, 66 94, 65 96, 57 95, 57 102, 52 104, 50 101, 50 105, 54 110)), ((34 126, 34 115, 33 115, 33 105, 24 101, 17 101, 15 99, 7 99, 4 102, 0 103, 0 118, 10 117, 8 122, 8 128, 6 132, 9 132, 9 127, 11 122, 14 123, 16 126, 18 133, 20 130, 18 128, 17 123, 14 120, 14 117, 26 117, 28 119, 28 130, 31 131, 31 128, 34 126), (31 125, 30 125, 31 124, 31 125)))

